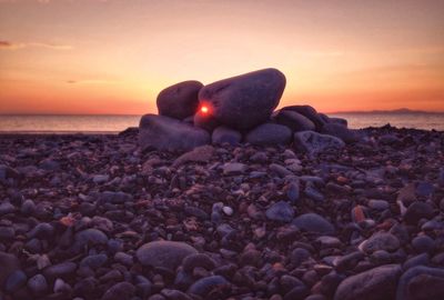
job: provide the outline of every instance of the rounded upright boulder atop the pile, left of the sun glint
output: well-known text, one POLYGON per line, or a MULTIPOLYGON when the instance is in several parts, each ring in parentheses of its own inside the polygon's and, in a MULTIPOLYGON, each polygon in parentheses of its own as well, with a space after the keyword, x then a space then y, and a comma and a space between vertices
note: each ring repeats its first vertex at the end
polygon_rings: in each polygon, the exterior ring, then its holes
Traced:
POLYGON ((198 94, 202 87, 201 82, 190 80, 162 90, 157 100, 159 114, 179 120, 194 114, 199 106, 198 94))

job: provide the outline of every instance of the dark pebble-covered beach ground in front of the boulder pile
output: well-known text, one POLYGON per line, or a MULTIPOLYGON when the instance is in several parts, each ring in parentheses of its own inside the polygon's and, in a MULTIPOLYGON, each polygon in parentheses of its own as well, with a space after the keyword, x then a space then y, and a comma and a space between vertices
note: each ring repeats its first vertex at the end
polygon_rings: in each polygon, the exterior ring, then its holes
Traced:
POLYGON ((444 299, 444 132, 363 132, 316 157, 1 137, 0 299, 444 299))

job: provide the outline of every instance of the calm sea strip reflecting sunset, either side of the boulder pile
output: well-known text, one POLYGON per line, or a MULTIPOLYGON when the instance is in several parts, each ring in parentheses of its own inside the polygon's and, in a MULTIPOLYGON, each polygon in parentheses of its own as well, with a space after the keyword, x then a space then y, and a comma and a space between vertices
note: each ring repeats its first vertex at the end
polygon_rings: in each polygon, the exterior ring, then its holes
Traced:
MULTIPOLYGON (((343 113, 350 128, 381 127, 444 130, 444 113, 343 113)), ((115 133, 139 124, 140 116, 0 116, 0 132, 115 133)))

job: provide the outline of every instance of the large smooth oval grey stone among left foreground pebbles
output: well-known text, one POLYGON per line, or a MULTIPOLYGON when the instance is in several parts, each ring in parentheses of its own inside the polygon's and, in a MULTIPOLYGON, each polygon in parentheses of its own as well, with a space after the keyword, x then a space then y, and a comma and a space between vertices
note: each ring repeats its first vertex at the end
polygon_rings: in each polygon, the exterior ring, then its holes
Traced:
POLYGON ((153 241, 141 246, 135 252, 143 266, 175 270, 182 260, 198 251, 184 242, 153 241))

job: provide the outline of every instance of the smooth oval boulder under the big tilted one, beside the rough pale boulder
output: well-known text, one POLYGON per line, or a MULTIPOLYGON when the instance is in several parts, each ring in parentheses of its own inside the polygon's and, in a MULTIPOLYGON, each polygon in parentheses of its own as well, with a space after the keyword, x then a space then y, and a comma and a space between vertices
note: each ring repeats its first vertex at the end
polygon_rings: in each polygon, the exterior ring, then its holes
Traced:
POLYGON ((258 146, 285 144, 291 138, 292 132, 286 126, 264 123, 246 133, 245 141, 258 146))

